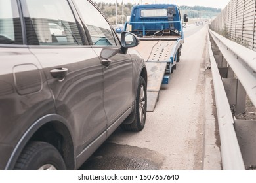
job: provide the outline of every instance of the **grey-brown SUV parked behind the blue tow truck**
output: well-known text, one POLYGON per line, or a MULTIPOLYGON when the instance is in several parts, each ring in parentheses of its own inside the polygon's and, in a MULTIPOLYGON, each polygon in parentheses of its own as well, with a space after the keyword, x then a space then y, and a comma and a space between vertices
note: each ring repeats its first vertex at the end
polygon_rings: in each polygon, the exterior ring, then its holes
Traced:
POLYGON ((78 169, 146 120, 139 39, 86 0, 0 0, 0 169, 78 169))

